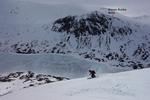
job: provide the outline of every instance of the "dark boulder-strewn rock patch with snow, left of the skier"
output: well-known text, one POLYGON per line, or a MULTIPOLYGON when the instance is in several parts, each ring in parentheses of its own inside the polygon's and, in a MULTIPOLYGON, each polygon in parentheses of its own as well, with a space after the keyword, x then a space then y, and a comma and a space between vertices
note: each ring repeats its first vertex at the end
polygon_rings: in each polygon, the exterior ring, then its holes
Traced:
MULTIPOLYGON (((57 77, 45 74, 35 74, 32 71, 25 72, 14 72, 8 75, 0 75, 0 82, 15 82, 21 81, 21 84, 24 84, 22 88, 28 88, 31 86, 38 86, 42 84, 69 80, 65 77, 57 77)), ((14 84, 15 85, 15 84, 14 84)))

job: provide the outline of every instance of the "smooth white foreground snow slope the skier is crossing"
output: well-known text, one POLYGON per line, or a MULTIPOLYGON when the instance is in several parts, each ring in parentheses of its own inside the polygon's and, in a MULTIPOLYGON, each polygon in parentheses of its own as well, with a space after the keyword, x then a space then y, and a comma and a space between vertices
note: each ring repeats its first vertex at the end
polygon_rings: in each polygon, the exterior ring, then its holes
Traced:
POLYGON ((29 88, 0 100, 149 100, 150 69, 73 79, 29 88))

